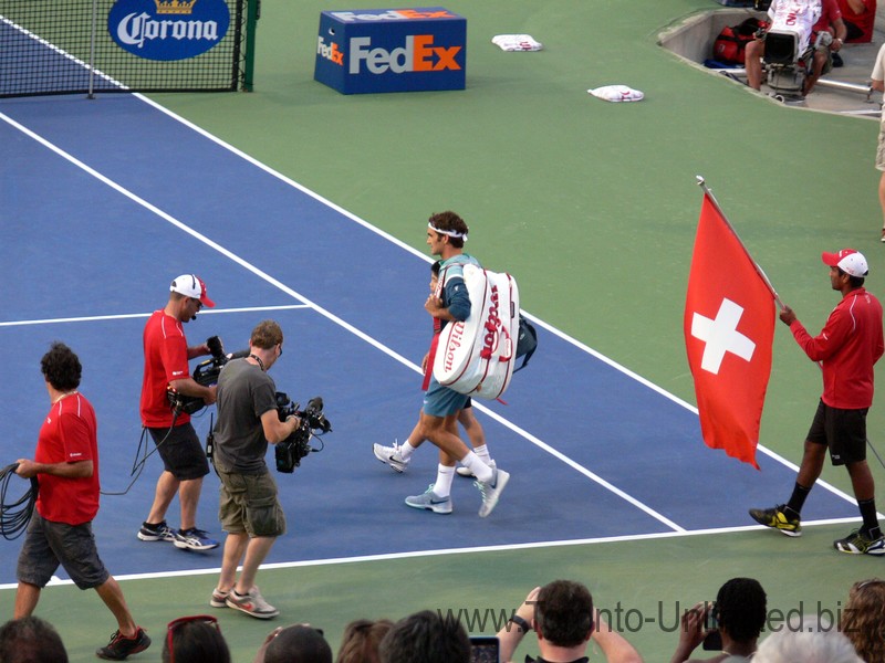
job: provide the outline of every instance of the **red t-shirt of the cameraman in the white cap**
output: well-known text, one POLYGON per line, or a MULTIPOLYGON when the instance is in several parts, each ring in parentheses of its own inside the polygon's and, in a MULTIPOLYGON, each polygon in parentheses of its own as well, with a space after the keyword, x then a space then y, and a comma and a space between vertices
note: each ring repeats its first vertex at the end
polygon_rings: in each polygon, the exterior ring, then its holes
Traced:
MULTIPOLYGON (((142 424, 148 428, 169 428, 173 411, 166 387, 173 380, 190 377, 187 364, 187 338, 180 320, 165 311, 155 311, 147 319, 144 333, 145 373, 142 381, 142 424)), ((190 421, 181 412, 175 425, 190 421)))

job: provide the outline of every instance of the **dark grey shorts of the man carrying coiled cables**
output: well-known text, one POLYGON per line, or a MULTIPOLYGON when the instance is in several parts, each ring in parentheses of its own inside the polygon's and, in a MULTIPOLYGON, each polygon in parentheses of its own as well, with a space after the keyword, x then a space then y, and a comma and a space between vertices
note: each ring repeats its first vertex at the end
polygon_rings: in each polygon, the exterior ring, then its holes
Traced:
POLYGON ((19 554, 15 577, 21 582, 45 587, 59 565, 80 589, 93 589, 111 577, 98 558, 92 523, 53 523, 34 512, 19 554))

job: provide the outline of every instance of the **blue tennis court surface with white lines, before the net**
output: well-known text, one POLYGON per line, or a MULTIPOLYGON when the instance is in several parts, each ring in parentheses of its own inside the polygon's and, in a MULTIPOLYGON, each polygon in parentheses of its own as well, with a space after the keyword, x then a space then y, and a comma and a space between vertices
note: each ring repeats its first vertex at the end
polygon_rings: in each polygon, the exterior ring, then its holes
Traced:
MULTIPOLYGON (((743 528, 748 506, 792 484, 779 459, 760 452, 756 472, 706 449, 690 407, 539 320, 538 354, 508 404, 477 408, 512 474, 496 512, 477 517, 466 480, 451 516, 409 509, 403 498, 433 481, 435 450, 397 475, 371 445, 403 440, 420 406, 426 257, 138 96, 3 102, 0 120, 3 463, 32 453, 48 409, 39 360, 61 339, 98 414, 103 488, 123 491, 140 435, 142 328, 168 282, 195 272, 217 307, 186 326, 189 338, 217 334, 236 350, 277 319, 278 389, 323 396, 334 427, 322 453, 277 475, 290 534, 269 562, 743 528)), ((209 414, 195 427, 204 436, 209 414)), ((126 495, 103 498, 96 535, 117 576, 220 566, 219 550, 135 538, 159 469, 152 456, 126 495)), ((209 475, 198 522, 220 535, 216 490, 209 475)), ((847 519, 856 506, 816 490, 808 513, 847 519)), ((0 582, 14 582, 18 550, 0 545, 0 582)))

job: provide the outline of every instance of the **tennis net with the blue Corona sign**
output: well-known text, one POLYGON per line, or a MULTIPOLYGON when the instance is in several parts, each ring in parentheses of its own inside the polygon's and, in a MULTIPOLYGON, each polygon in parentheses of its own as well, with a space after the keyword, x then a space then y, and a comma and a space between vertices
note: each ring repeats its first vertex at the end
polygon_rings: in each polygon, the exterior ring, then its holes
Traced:
POLYGON ((0 0, 0 97, 250 90, 257 2, 0 0))

